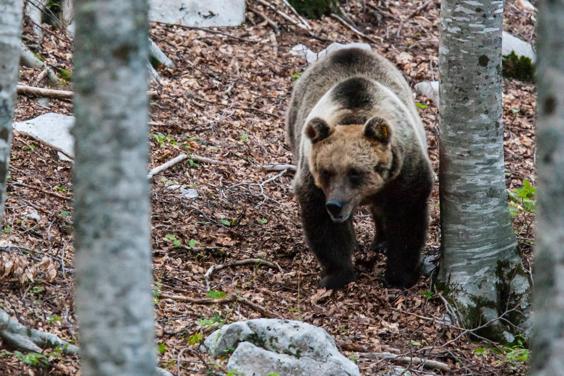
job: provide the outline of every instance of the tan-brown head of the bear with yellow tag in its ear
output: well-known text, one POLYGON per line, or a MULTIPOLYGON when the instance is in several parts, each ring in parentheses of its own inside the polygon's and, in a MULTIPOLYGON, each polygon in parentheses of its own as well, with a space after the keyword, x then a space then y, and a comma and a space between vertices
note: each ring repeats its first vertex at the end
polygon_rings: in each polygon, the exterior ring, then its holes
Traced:
POLYGON ((323 190, 334 222, 344 222, 394 174, 391 127, 373 116, 364 125, 329 125, 312 118, 304 130, 311 141, 310 170, 323 190))

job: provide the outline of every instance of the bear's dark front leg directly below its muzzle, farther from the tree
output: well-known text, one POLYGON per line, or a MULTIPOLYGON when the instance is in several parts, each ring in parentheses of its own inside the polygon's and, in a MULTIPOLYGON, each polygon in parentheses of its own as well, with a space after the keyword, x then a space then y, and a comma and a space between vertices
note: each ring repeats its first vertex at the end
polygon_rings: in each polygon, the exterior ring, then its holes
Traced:
POLYGON ((323 267, 319 287, 328 290, 346 287, 356 280, 351 259, 356 248, 352 218, 333 222, 325 209, 325 194, 311 178, 307 184, 296 186, 296 196, 307 245, 323 267))

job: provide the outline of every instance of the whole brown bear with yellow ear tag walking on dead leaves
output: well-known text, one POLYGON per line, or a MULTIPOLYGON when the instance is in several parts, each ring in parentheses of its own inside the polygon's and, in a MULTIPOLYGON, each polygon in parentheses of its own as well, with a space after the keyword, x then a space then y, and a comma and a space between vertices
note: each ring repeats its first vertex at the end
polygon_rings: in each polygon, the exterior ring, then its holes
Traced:
POLYGON ((306 241, 323 267, 320 287, 341 289, 355 280, 352 216, 360 205, 370 207, 376 224, 372 249, 387 254, 385 282, 413 286, 433 172, 399 70, 360 48, 324 56, 296 82, 287 136, 306 241))

